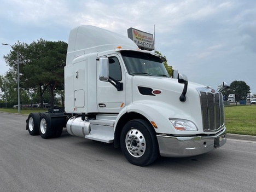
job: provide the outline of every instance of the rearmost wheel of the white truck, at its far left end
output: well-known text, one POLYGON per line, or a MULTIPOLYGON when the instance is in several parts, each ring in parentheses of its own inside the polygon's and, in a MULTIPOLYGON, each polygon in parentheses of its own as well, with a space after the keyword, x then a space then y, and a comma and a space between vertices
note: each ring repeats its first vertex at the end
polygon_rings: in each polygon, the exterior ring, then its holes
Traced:
POLYGON ((39 113, 30 113, 27 118, 27 129, 30 135, 39 135, 39 113))

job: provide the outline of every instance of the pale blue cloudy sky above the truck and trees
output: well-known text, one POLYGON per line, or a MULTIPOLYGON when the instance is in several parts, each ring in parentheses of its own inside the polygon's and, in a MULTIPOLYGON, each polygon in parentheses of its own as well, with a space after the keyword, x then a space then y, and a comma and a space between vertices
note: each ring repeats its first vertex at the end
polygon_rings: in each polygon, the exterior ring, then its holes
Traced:
POLYGON ((256 94, 255 0, 2 0, 0 24, 0 75, 11 50, 2 43, 68 43, 79 25, 124 36, 132 27, 155 34, 155 49, 189 82, 217 89, 241 80, 256 94))

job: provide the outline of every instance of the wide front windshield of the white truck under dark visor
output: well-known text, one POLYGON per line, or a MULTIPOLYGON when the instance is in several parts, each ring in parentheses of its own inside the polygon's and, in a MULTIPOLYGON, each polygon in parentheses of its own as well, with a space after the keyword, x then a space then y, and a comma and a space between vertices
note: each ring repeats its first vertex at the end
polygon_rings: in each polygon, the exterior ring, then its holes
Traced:
POLYGON ((155 55, 137 51, 121 51, 121 55, 131 75, 169 77, 162 60, 155 55))

